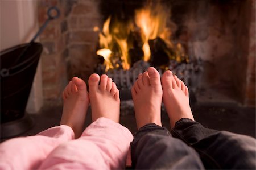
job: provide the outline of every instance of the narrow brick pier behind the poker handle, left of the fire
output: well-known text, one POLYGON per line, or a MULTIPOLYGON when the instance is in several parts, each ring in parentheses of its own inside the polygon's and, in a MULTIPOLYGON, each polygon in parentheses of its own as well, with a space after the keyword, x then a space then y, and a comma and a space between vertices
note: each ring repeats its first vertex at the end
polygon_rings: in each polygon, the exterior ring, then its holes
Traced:
POLYGON ((47 19, 49 7, 56 6, 60 10, 59 18, 52 20, 40 35, 40 43, 43 44, 42 77, 43 95, 46 100, 61 98, 61 92, 67 84, 67 60, 68 60, 68 15, 71 6, 76 1, 64 0, 39 0, 38 13, 39 24, 47 19))

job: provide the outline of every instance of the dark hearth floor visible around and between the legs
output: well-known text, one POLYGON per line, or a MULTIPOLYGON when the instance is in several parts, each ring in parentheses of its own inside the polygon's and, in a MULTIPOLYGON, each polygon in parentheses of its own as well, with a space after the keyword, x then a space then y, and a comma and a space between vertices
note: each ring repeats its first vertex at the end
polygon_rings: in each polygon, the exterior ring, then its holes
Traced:
MULTIPOLYGON (((31 114, 30 116, 34 119, 34 127, 19 136, 35 135, 49 127, 59 125, 61 111, 62 106, 59 105, 44 107, 38 114, 31 114)), ((255 138, 255 109, 229 105, 214 106, 213 104, 199 106, 197 104, 192 106, 192 111, 195 120, 205 127, 249 135, 255 138)), ((91 123, 90 113, 89 108, 84 127, 91 123)), ((129 128, 133 134, 137 131, 133 110, 130 110, 129 114, 122 115, 120 123, 129 128)), ((166 113, 162 113, 162 123, 163 126, 170 127, 166 113)))

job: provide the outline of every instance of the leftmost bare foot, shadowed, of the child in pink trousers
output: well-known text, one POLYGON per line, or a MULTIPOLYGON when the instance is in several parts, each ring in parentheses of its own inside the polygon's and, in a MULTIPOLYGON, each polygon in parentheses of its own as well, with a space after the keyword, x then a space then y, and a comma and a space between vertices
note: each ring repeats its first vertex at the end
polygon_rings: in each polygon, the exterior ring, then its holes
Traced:
POLYGON ((82 134, 89 96, 84 80, 73 77, 63 91, 63 113, 60 125, 67 125, 75 132, 75 138, 82 134))

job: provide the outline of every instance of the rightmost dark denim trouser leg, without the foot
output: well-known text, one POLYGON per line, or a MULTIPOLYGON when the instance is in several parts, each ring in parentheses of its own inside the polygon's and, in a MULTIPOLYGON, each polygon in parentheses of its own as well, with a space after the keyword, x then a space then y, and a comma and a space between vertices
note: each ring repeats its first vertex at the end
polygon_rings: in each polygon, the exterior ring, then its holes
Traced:
POLYGON ((254 138, 211 130, 191 119, 178 121, 171 133, 195 148, 205 168, 256 169, 254 138))

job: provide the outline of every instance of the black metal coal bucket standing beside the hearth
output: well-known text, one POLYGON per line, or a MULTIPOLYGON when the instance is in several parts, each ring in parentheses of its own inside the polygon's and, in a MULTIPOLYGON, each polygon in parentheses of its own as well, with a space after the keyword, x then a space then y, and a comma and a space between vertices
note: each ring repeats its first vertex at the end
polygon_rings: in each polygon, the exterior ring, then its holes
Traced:
MULTIPOLYGON (((43 47, 40 43, 27 43, 6 49, 0 53, 1 128, 5 123, 24 117, 42 50, 43 47), (17 57, 25 50, 26 53, 15 64, 17 57)), ((11 134, 8 136, 11 136, 11 134)))

